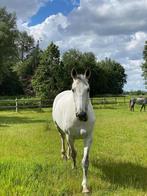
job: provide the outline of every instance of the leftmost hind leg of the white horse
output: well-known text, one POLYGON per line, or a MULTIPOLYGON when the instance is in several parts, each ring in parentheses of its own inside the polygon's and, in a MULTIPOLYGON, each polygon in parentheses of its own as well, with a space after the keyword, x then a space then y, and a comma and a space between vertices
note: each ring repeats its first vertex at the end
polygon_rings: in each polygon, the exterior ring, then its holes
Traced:
POLYGON ((66 160, 67 156, 66 156, 66 150, 65 150, 65 133, 59 128, 57 123, 56 123, 56 127, 61 137, 61 157, 66 160))

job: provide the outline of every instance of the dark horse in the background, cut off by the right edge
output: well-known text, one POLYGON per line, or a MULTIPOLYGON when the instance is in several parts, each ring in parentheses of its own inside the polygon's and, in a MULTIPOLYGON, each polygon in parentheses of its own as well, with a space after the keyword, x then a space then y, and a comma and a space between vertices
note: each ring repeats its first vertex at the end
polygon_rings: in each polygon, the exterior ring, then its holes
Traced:
POLYGON ((130 111, 134 111, 135 104, 141 105, 140 112, 142 109, 145 111, 145 106, 147 104, 147 98, 139 97, 139 98, 131 98, 129 102, 130 111))

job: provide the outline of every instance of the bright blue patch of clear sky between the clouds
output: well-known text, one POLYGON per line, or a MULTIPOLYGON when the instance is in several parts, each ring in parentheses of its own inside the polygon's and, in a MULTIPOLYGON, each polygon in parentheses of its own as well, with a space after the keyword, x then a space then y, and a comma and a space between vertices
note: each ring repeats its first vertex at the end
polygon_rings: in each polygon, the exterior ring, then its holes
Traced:
POLYGON ((33 26, 43 22, 48 16, 62 13, 67 16, 73 9, 77 8, 80 0, 53 0, 48 1, 38 12, 31 17, 29 26, 33 26))

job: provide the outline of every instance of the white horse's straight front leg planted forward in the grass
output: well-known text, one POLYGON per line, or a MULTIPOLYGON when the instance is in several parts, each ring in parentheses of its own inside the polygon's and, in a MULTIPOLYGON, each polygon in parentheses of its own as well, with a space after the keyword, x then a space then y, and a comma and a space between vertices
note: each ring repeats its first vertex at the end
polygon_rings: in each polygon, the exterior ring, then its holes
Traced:
POLYGON ((87 174, 88 174, 88 167, 89 167, 89 150, 92 143, 92 137, 87 138, 84 140, 84 154, 82 159, 82 168, 83 168, 83 193, 88 193, 89 189, 87 187, 87 174))

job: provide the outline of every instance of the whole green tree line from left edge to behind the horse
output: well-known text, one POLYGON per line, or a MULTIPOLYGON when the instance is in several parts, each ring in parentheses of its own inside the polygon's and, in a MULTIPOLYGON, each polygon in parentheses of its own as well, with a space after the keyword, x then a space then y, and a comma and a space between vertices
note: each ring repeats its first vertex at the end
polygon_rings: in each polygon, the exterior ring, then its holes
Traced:
POLYGON ((44 50, 27 32, 20 32, 16 15, 0 8, 0 95, 30 95, 53 98, 71 88, 71 69, 90 68, 91 96, 120 94, 126 83, 123 66, 105 58, 97 61, 92 52, 69 49, 60 54, 51 42, 44 50))

